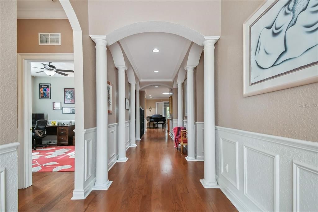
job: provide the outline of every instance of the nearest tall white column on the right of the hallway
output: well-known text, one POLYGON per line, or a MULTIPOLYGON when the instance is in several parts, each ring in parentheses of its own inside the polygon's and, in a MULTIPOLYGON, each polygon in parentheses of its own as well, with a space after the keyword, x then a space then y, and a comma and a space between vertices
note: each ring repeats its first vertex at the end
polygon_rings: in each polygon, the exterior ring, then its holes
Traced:
POLYGON ((214 117, 214 44, 218 38, 204 41, 204 179, 205 188, 218 188, 215 177, 215 117, 214 117))

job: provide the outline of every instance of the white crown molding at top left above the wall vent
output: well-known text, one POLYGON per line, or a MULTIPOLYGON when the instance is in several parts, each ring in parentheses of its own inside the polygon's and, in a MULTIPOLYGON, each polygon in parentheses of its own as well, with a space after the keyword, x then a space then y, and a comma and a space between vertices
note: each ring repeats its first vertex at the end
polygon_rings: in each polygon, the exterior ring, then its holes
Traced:
POLYGON ((17 9, 17 19, 67 19, 63 9, 17 9))

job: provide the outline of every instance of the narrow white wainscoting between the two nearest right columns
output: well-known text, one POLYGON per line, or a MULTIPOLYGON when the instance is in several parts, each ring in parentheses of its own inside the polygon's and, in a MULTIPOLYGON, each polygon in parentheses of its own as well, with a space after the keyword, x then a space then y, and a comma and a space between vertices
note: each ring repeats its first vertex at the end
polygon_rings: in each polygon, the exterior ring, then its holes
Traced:
POLYGON ((203 122, 194 123, 195 156, 197 161, 204 161, 204 150, 203 150, 204 129, 203 127, 204 127, 203 122))

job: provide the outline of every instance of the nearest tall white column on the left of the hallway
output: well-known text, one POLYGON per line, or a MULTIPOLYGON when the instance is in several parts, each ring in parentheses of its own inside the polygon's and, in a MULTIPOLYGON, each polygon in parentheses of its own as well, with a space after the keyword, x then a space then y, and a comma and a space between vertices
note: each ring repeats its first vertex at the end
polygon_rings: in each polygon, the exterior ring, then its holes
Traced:
MULTIPOLYGON (((107 84, 106 36, 92 36, 96 44, 96 90, 107 84)), ((107 190, 113 181, 108 180, 108 102, 107 95, 97 93, 96 98, 96 182, 93 190, 107 190)))

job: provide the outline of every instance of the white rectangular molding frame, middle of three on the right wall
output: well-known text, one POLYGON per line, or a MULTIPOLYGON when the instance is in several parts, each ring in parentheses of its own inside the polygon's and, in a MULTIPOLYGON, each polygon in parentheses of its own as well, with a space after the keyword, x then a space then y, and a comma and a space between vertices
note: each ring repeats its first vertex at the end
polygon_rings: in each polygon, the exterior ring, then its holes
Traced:
POLYGON ((274 160, 274 170, 273 170, 273 173, 274 173, 274 194, 273 194, 274 195, 274 208, 271 208, 270 210, 279 211, 279 155, 275 155, 271 152, 267 152, 267 151, 259 150, 259 149, 254 148, 254 147, 243 145, 244 195, 262 211, 267 211, 267 210, 265 208, 263 208, 263 206, 261 206, 259 204, 259 202, 254 200, 254 198, 248 194, 247 167, 246 167, 246 150, 247 149, 273 158, 273 160, 274 160))

